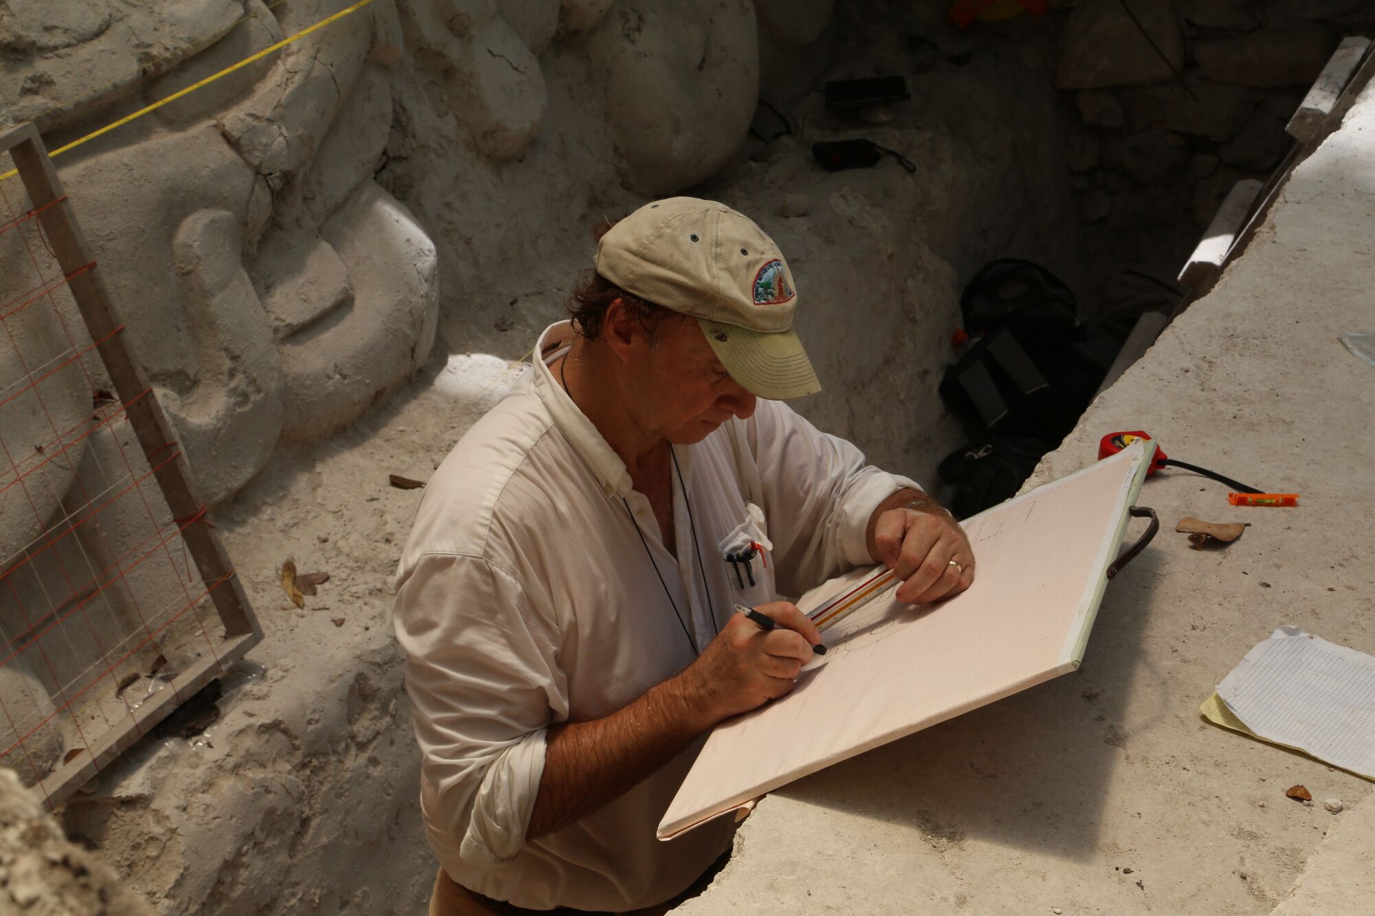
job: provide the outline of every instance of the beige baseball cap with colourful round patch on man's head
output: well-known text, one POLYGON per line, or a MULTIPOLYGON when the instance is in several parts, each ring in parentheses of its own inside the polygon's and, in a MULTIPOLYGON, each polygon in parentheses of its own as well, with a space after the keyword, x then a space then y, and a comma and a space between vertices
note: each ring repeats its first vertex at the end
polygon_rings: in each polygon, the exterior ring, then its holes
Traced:
POLYGON ((654 201, 602 235, 595 264, 627 293, 696 318, 745 391, 770 400, 821 391, 792 329, 792 272, 749 217, 694 197, 654 201))

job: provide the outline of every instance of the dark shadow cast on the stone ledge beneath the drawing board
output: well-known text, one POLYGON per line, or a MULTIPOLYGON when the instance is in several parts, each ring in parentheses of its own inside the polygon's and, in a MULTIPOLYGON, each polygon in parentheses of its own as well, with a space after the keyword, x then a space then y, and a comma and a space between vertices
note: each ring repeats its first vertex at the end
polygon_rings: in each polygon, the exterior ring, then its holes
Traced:
MULTIPOLYGON (((1132 530, 1133 532, 1136 528, 1132 530)), ((1132 535, 1129 534, 1129 538, 1132 535)), ((976 838, 1068 860, 1092 857, 1159 554, 1147 549, 1107 589, 1079 671, 942 722, 777 794, 891 824, 945 850, 976 838)), ((1151 717, 1154 719, 1156 717, 1151 717)))

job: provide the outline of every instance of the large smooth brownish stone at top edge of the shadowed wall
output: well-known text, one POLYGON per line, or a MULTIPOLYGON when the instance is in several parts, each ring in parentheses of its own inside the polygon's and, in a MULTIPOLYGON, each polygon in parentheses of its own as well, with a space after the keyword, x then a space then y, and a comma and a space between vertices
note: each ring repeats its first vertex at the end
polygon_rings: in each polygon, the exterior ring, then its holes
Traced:
POLYGON ((1084 0, 1066 22, 1055 83, 1062 89, 1151 85, 1182 66, 1184 39, 1169 0, 1084 0), (1122 3, 1130 3, 1134 19, 1122 3))

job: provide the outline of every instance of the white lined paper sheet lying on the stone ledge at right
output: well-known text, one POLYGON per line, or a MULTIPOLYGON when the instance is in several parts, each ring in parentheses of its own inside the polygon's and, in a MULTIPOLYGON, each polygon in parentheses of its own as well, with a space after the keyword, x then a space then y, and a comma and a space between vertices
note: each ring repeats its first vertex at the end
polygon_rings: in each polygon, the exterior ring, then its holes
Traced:
POLYGON ((1375 778, 1375 656, 1280 627, 1217 695, 1258 737, 1375 778))

